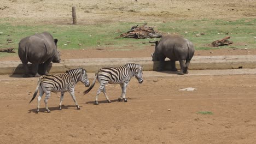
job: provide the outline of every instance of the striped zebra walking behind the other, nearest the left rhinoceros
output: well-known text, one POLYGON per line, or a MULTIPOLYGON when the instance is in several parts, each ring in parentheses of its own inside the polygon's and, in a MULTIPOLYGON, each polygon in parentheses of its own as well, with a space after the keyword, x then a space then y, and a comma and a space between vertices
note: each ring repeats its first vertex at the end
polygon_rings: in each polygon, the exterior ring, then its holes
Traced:
POLYGON ((48 75, 40 76, 37 82, 36 91, 34 92, 33 98, 30 100, 30 103, 36 97, 38 88, 39 88, 36 113, 39 112, 40 100, 44 93, 45 93, 45 99, 44 99, 45 108, 47 112, 50 112, 50 110, 48 109, 48 99, 50 97, 50 93, 61 92, 60 104, 59 104, 59 110, 61 110, 61 103, 63 100, 64 93, 68 91, 71 94, 74 100, 74 103, 77 106, 77 109, 80 110, 80 107, 77 104, 77 100, 75 99, 75 95, 74 95, 75 84, 79 81, 83 82, 86 87, 90 86, 90 82, 88 80, 86 70, 83 68, 68 70, 67 73, 63 73, 63 74, 48 74, 48 75))

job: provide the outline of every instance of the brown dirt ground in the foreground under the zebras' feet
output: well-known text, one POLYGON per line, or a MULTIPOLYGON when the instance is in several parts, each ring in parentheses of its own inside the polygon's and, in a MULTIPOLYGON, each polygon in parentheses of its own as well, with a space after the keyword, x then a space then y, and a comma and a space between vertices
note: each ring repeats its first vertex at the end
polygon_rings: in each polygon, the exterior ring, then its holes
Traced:
MULTIPOLYGON (((92 81, 92 79, 90 79, 92 81)), ((111 104, 104 95, 94 105, 94 89, 78 83, 76 110, 66 93, 57 110, 59 93, 36 110, 28 104, 37 78, 0 79, 0 143, 255 143, 255 75, 146 77, 132 79, 128 102, 118 102, 119 85, 108 85, 111 104), (235 80, 235 82, 234 82, 235 80), (196 91, 179 91, 194 87, 196 91), (168 111, 170 109, 170 111, 168 111), (197 112, 209 111, 213 115, 197 112)))

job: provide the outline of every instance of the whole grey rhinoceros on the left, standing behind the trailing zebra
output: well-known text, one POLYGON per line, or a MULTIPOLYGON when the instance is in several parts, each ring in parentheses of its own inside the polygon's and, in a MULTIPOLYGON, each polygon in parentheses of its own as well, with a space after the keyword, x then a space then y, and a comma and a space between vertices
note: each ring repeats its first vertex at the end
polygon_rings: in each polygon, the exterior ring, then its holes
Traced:
POLYGON ((48 74, 47 68, 51 62, 60 62, 60 52, 57 51, 57 39, 48 32, 38 33, 23 38, 19 43, 19 57, 25 69, 24 77, 38 77, 48 74), (31 71, 27 63, 31 62, 31 71), (42 71, 38 67, 42 66, 42 71))

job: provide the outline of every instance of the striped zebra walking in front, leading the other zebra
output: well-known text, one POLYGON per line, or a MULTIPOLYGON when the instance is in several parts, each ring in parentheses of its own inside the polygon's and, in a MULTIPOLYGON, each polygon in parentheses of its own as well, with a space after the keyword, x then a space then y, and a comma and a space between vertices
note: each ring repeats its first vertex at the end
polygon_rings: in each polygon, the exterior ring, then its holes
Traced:
POLYGON ((125 94, 126 94, 126 88, 131 78, 135 76, 138 82, 142 83, 143 82, 142 75, 143 73, 142 73, 141 65, 134 64, 134 63, 128 63, 128 64, 125 64, 124 66, 120 66, 116 68, 113 68, 113 67, 101 68, 100 70, 96 71, 95 79, 92 82, 92 85, 86 91, 84 91, 84 94, 89 93, 91 91, 97 79, 98 82, 100 82, 100 88, 98 88, 96 99, 95 99, 96 105, 98 105, 98 94, 100 94, 102 91, 108 103, 111 103, 106 93, 105 86, 107 85, 107 83, 119 84, 121 86, 122 93, 118 100, 119 101, 124 100, 125 102, 127 102, 127 99, 125 98, 125 94))

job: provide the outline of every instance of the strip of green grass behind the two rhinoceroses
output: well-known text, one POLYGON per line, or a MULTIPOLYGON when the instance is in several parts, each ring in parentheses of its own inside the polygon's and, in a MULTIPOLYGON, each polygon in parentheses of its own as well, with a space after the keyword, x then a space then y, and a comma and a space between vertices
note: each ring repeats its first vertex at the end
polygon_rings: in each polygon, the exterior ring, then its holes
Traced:
MULTIPOLYGON (((15 21, 15 20, 14 20, 15 21)), ((144 22, 142 22, 144 23, 144 22)), ((53 34, 54 38, 59 39, 59 49, 96 49, 104 47, 114 47, 114 50, 127 51, 134 49, 144 49, 149 40, 154 39, 127 39, 118 37, 120 34, 129 31, 129 29, 137 24, 131 22, 115 22, 98 25, 36 25, 23 26, 11 25, 5 23, 4 19, 0 19, 0 48, 14 47, 18 49, 20 39, 32 35, 34 33, 48 31, 53 34), (8 44, 7 39, 12 39, 13 43, 8 44), (69 43, 67 43, 69 41, 69 43), (146 44, 142 44, 146 43, 146 44), (80 44, 80 45, 79 45, 80 44)), ((179 20, 172 22, 148 22, 148 26, 152 26, 161 33, 176 33, 183 35, 192 41, 196 50, 209 49, 256 49, 256 19, 239 19, 236 21, 226 20, 179 20), (184 33, 187 32, 187 33, 184 33), (196 37, 196 34, 205 33, 196 37), (234 42, 229 46, 221 46, 220 48, 208 46, 212 41, 222 39, 228 35, 230 40, 234 42), (245 46, 245 44, 247 46, 245 46)), ((156 39, 159 40, 159 39, 156 39)), ((0 53, 0 57, 6 55, 17 55, 0 53)))

